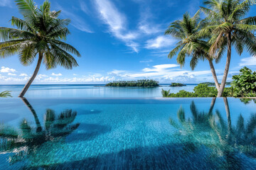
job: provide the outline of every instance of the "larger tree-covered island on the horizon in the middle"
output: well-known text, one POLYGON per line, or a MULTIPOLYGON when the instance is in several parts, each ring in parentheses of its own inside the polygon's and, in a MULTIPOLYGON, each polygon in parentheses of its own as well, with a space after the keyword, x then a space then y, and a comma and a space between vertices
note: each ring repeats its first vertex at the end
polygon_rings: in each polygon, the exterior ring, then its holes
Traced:
POLYGON ((155 80, 137 80, 137 81, 114 81, 106 84, 106 86, 141 86, 141 87, 156 87, 159 86, 159 82, 155 80))

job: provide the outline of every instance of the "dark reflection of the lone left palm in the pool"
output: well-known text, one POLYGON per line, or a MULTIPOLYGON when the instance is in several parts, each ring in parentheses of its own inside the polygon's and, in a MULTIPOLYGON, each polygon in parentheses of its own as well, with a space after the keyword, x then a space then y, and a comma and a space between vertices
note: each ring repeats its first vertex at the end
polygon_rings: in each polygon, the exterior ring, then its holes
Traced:
POLYGON ((36 154, 38 147, 46 142, 61 142, 80 125, 79 123, 73 124, 77 115, 76 111, 69 109, 57 115, 55 111, 47 109, 44 115, 44 127, 42 127, 31 104, 26 98, 22 98, 22 100, 35 118, 36 128, 31 127, 26 119, 21 121, 19 131, 0 125, 0 153, 14 153, 9 159, 10 163, 21 161, 28 155, 36 154))

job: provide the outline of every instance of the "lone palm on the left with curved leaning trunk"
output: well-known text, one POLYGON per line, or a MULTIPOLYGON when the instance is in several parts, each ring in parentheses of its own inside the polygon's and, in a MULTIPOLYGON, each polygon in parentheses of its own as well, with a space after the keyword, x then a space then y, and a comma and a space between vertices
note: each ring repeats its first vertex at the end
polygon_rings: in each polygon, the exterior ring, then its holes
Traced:
POLYGON ((58 18, 60 11, 50 11, 48 1, 44 1, 40 8, 33 0, 17 0, 16 4, 24 19, 11 18, 11 24, 17 29, 0 27, 0 39, 4 41, 0 42, 0 57, 18 54, 21 64, 28 66, 38 55, 36 69, 19 95, 23 97, 36 78, 42 62, 46 69, 58 65, 72 69, 78 63, 70 53, 78 57, 80 53, 62 41, 70 34, 67 28, 70 20, 58 18))

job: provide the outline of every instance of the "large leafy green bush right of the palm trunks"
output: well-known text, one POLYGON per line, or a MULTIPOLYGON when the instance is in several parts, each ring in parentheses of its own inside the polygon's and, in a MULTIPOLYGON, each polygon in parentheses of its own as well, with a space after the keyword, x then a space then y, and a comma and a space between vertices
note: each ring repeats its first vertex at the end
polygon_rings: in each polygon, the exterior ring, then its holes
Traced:
POLYGON ((235 97, 256 97, 256 72, 244 67, 233 76, 232 87, 235 97))

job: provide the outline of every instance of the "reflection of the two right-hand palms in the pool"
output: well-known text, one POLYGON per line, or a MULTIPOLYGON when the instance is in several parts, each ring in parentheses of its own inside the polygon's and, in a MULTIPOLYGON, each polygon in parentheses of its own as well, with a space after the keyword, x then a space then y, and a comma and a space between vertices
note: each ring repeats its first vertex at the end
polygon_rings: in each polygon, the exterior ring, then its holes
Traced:
POLYGON ((242 159, 239 154, 256 158, 256 115, 251 115, 247 123, 239 115, 236 125, 232 125, 228 99, 223 98, 227 121, 216 110, 213 114, 215 98, 208 113, 199 112, 194 102, 191 103, 191 118, 186 118, 183 108, 177 113, 179 123, 170 119, 170 123, 178 130, 179 139, 188 151, 195 151, 201 146, 211 149, 211 158, 223 157, 224 169, 240 169, 242 159))

